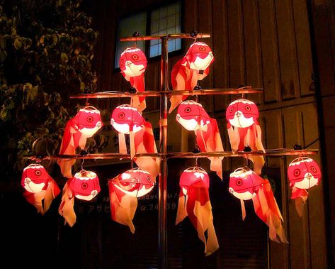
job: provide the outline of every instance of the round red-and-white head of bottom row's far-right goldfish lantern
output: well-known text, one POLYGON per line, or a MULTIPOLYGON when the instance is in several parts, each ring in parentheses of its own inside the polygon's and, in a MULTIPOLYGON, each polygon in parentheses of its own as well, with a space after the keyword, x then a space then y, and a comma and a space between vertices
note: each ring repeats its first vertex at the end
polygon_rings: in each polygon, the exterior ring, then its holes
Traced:
POLYGON ((288 180, 298 189, 310 189, 319 184, 321 170, 312 158, 298 157, 288 165, 288 180))

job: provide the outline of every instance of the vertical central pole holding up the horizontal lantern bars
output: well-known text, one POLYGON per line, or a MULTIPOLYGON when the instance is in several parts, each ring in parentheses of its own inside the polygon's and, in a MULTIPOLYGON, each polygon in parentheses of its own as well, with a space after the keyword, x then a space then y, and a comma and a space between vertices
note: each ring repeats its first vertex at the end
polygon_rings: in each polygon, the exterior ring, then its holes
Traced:
MULTIPOLYGON (((168 91, 168 36, 161 38, 161 91, 168 91)), ((163 154, 159 166, 158 182, 158 221, 159 221, 159 269, 167 268, 167 232, 166 232, 166 199, 167 199, 167 94, 161 94, 159 119, 159 152, 163 154)))

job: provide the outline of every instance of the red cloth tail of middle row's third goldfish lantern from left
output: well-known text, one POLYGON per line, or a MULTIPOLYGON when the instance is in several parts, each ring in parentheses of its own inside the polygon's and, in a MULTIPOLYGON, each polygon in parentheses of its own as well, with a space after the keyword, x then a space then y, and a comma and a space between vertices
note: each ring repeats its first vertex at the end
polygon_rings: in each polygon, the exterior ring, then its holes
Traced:
MULTIPOLYGON (((216 119, 210 119, 207 131, 198 129, 195 131, 197 144, 202 152, 224 151, 216 119)), ((217 172, 222 180, 223 157, 210 157, 210 170, 217 172)))

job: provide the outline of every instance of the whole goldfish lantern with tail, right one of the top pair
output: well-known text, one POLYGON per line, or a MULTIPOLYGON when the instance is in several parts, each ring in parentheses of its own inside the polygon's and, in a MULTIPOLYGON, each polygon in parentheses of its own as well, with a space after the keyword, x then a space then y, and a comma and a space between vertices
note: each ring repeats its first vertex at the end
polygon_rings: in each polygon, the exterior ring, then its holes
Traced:
MULTIPOLYGON (((175 91, 191 91, 210 72, 210 65, 214 61, 214 56, 210 47, 203 42, 193 43, 185 56, 176 62, 171 71, 171 84, 175 91)), ((172 95, 170 97, 171 106, 169 113, 185 100, 187 96, 172 95)))

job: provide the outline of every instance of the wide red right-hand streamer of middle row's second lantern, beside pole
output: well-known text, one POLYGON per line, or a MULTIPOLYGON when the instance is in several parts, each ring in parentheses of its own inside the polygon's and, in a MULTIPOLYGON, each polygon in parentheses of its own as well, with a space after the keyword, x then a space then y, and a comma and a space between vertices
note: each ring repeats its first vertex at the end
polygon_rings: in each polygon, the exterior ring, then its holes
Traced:
MULTIPOLYGON (((144 126, 141 131, 135 133, 135 151, 136 153, 157 153, 157 146, 154 141, 154 132, 152 124, 144 121, 144 126)), ((144 170, 147 170, 156 182, 156 177, 159 175, 159 159, 138 157, 134 158, 136 165, 144 170)))

